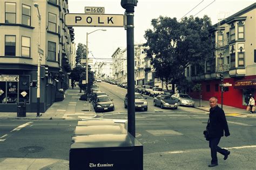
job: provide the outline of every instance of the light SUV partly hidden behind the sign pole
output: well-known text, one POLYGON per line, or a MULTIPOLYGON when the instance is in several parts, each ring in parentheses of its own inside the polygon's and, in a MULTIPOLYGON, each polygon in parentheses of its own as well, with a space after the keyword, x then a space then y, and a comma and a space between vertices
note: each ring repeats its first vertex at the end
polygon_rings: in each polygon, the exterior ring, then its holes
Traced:
MULTIPOLYGON (((143 109, 144 111, 147 111, 147 98, 144 98, 144 96, 140 93, 135 93, 135 108, 137 109, 143 109)), ((127 108, 128 106, 128 94, 125 95, 124 98, 124 108, 127 108)))

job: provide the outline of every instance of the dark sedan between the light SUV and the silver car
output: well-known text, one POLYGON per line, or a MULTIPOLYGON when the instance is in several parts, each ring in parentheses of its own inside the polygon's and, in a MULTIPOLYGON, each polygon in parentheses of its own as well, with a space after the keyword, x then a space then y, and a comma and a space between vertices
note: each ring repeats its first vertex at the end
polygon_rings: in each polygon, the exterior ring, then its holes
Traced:
POLYGON ((154 98, 154 106, 160 106, 161 108, 174 108, 177 109, 179 104, 175 98, 172 98, 169 95, 158 95, 154 98))

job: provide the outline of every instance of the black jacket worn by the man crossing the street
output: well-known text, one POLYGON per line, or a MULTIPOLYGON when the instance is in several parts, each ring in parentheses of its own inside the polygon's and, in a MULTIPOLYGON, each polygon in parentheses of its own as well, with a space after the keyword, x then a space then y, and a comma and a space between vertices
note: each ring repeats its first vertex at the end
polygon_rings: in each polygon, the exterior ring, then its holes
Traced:
POLYGON ((230 135, 225 113, 218 105, 210 109, 209 119, 207 128, 210 138, 223 137, 223 131, 225 131, 226 136, 230 135))

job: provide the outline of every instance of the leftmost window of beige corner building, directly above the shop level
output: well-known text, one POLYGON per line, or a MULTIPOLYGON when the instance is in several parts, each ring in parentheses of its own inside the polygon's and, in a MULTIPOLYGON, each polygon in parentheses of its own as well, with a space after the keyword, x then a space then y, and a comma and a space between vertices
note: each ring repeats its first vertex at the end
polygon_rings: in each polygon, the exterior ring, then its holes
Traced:
POLYGON ((16 56, 16 36, 5 36, 5 56, 16 56))

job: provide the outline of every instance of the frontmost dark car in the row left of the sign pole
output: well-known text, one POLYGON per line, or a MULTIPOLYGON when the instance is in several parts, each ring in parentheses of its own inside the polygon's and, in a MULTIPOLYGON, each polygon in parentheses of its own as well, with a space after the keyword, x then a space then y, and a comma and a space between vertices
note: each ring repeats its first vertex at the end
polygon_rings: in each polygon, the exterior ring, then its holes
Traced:
POLYGON ((103 95, 98 96, 95 101, 92 102, 95 112, 99 111, 114 111, 113 99, 110 99, 109 96, 103 95))

